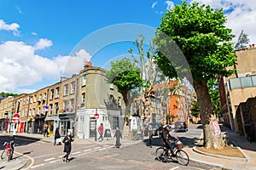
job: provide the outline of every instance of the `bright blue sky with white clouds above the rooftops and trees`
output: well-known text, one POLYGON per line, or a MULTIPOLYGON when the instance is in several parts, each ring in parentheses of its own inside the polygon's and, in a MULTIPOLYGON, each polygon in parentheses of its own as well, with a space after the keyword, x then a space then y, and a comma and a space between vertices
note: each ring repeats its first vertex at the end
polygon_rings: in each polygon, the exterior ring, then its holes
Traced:
MULTIPOLYGON (((188 0, 224 8, 227 27, 256 42, 256 3, 251 0, 188 0)), ((85 61, 108 68, 129 56, 133 41, 145 43, 160 26, 160 17, 180 1, 1 0, 0 92, 32 93, 79 73, 85 61)))

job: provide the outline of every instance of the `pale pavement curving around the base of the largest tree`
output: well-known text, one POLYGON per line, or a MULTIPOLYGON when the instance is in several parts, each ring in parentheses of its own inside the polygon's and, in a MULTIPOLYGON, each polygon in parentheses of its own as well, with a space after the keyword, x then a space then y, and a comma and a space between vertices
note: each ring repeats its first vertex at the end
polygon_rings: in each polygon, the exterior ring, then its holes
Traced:
POLYGON ((207 153, 198 153, 194 148, 186 147, 184 150, 189 154, 191 161, 196 161, 202 164, 212 165, 219 169, 232 169, 232 170, 241 170, 256 169, 256 143, 249 143, 245 136, 240 136, 238 133, 232 133, 230 129, 221 126, 222 132, 225 132, 237 147, 241 149, 241 153, 246 157, 242 158, 233 158, 227 156, 214 156, 207 153))

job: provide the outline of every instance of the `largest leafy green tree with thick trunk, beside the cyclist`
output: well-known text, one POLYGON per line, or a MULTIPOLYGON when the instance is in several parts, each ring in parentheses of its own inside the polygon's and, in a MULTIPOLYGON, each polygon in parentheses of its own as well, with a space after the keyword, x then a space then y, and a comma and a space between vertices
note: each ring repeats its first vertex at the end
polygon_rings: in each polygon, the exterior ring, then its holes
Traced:
POLYGON ((159 50, 155 61, 166 76, 186 77, 195 88, 207 148, 222 148, 207 82, 217 74, 230 76, 234 70, 227 67, 236 63, 226 20, 222 9, 183 2, 166 11, 154 39, 159 50))

